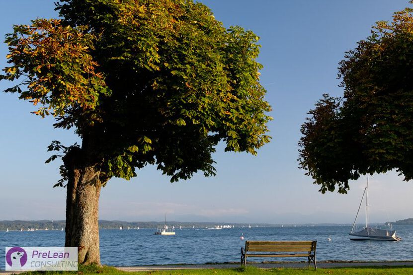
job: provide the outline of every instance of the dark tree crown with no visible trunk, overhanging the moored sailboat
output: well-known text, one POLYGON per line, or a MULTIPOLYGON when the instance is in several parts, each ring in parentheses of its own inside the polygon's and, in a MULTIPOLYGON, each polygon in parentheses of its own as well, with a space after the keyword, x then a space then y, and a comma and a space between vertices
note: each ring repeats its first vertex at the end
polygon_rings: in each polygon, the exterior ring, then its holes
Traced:
POLYGON ((340 62, 343 98, 328 94, 301 127, 300 167, 320 191, 347 193, 360 174, 413 178, 413 9, 379 21, 340 62))

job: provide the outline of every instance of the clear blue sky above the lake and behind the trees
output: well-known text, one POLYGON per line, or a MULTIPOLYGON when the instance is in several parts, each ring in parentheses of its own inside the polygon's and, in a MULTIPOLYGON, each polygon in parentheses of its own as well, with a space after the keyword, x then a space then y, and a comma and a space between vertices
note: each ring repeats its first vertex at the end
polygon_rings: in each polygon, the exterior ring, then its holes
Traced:
MULTIPOLYGON (((12 24, 57 17, 54 0, 0 0, 0 37, 12 24)), ((351 223, 366 178, 350 183, 348 195, 322 195, 298 169, 300 126, 322 94, 341 96, 337 64, 344 52, 370 34, 377 20, 389 20, 407 0, 202 0, 225 26, 240 25, 260 36, 261 83, 272 105, 272 141, 254 157, 215 154, 217 176, 202 174, 171 184, 155 167, 130 181, 111 179, 100 197, 100 218, 118 220, 216 221, 245 223, 351 223)), ((3 38, 1 38, 3 39, 3 38)), ((0 44, 0 67, 7 47, 0 44)), ((0 90, 9 86, 0 82, 0 90)), ((55 130, 52 119, 16 95, 0 92, 0 220, 64 219, 66 189, 55 161, 44 164, 51 140, 79 142, 70 131, 55 130)), ((395 172, 370 178, 370 220, 413 217, 413 183, 395 172)), ((361 221, 361 220, 360 220, 361 221)))

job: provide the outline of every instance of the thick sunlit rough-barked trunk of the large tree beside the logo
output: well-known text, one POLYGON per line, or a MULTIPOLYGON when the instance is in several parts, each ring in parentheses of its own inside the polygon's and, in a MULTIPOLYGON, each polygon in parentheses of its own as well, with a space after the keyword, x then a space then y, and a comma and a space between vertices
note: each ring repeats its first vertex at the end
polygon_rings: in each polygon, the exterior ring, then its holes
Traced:
POLYGON ((82 149, 63 158, 68 173, 65 246, 78 247, 78 263, 100 265, 99 195, 102 182, 97 164, 84 164, 82 149))

